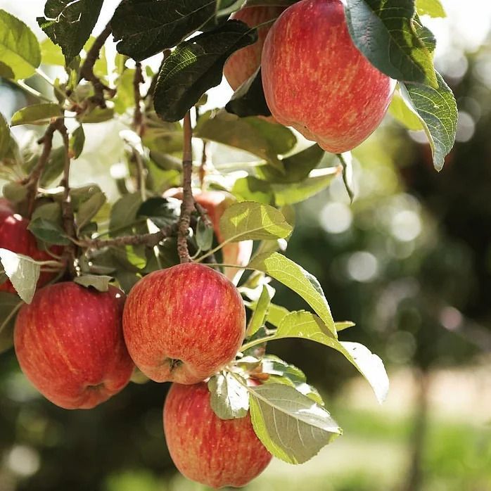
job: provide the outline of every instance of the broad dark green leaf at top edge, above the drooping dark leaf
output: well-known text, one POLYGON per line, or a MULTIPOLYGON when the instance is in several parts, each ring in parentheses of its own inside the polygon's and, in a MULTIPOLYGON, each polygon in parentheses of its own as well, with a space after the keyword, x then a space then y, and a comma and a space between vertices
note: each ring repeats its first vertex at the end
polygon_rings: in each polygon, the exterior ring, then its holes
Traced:
POLYGON ((215 0, 129 0, 111 27, 117 51, 136 61, 172 48, 215 14, 215 0))

